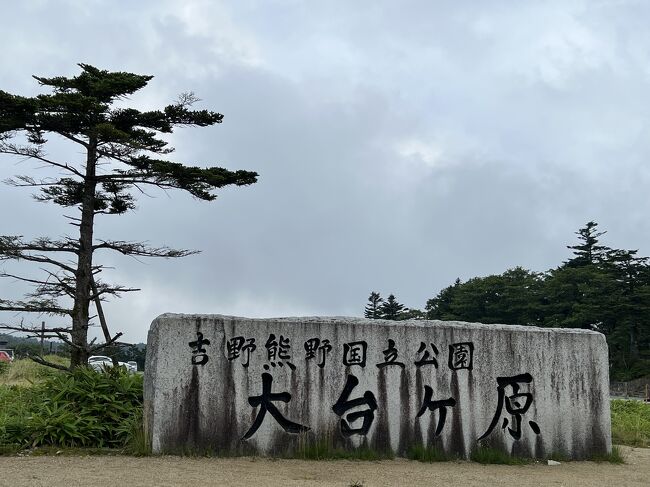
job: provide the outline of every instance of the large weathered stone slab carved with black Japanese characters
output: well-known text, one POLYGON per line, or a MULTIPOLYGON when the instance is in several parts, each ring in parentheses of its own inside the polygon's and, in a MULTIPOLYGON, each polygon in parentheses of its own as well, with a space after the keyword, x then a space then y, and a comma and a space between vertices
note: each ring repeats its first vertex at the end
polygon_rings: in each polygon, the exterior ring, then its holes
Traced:
POLYGON ((591 331, 165 314, 146 360, 154 452, 611 451, 607 345, 591 331))

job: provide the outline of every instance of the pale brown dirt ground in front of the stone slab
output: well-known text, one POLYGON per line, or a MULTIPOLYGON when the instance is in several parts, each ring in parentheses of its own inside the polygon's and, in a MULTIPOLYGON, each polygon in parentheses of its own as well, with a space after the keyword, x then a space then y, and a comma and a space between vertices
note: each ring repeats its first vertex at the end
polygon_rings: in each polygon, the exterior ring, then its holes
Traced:
POLYGON ((650 449, 625 448, 625 465, 479 465, 410 460, 304 461, 122 456, 0 457, 0 485, 76 486, 650 486, 650 449))

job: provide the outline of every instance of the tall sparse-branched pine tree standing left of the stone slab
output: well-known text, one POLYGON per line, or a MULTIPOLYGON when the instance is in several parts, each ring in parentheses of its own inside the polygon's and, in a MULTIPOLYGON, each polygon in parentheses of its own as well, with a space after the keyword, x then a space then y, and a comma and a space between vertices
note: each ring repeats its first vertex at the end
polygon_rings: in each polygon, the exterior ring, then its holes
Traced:
MULTIPOLYGON (((101 281, 98 275, 103 267, 95 263, 95 251, 163 258, 195 253, 140 242, 97 241, 93 238, 96 217, 133 210, 134 193, 143 193, 147 187, 181 189, 197 199, 212 201, 216 198, 214 189, 252 184, 257 178, 250 171, 191 167, 169 159, 173 148, 162 134, 170 134, 179 126, 208 127, 223 119, 216 112, 192 110, 198 101, 192 93, 181 95, 162 110, 125 108, 116 102, 144 88, 152 76, 79 66, 81 74, 72 78, 35 76, 41 86, 51 89, 49 94, 26 98, 0 91, 0 153, 31 159, 57 171, 56 176, 41 179, 17 176, 11 184, 38 188, 38 201, 79 211, 77 216, 67 217, 78 228, 75 236, 32 241, 13 235, 0 237, 0 260, 34 262, 47 268, 43 279, 10 276, 36 289, 25 300, 0 300, 0 311, 67 316, 70 326, 49 329, 48 334, 70 346, 71 367, 85 364, 89 355, 117 342, 121 335, 109 334, 101 300, 135 290, 101 281), (54 160, 45 151, 46 136, 74 144, 77 149, 70 152, 71 159, 81 150, 83 160, 54 160), (62 298, 67 304, 61 303, 62 298), (104 343, 88 342, 91 303, 97 308, 104 343)), ((40 327, 22 324, 4 328, 40 333, 40 327)))

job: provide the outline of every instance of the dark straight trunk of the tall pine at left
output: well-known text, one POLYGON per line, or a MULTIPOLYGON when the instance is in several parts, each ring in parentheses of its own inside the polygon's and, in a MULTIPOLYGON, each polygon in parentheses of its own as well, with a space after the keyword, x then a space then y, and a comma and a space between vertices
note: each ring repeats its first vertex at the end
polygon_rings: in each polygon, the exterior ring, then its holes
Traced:
POLYGON ((88 140, 86 175, 84 177, 81 202, 81 222, 79 224, 79 256, 76 271, 74 307, 72 310, 72 350, 70 367, 88 363, 88 318, 92 283, 93 264, 93 223, 95 219, 95 170, 97 164, 97 142, 91 136, 88 140))

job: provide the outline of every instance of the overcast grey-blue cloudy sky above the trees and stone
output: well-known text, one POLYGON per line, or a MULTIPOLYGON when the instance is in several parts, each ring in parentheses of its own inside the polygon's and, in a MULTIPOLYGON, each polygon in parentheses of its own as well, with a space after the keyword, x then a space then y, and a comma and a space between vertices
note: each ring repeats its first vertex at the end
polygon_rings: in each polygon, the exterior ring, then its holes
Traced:
MULTIPOLYGON (((179 129, 177 160, 260 174, 212 203, 152 192, 99 219, 99 237, 202 250, 96 256, 142 288, 106 305, 129 341, 163 312, 359 316, 372 290, 423 308, 457 277, 557 266, 589 220, 605 243, 650 254, 650 2, 25 0, 2 12, 0 89, 34 95, 32 74, 72 76, 78 62, 152 74, 132 105, 194 91, 225 115, 179 129)), ((34 168, 0 158, 3 179, 34 168)), ((3 187, 0 205, 1 234, 74 230, 24 189, 3 187)), ((0 282, 2 297, 16 289, 0 282)))

